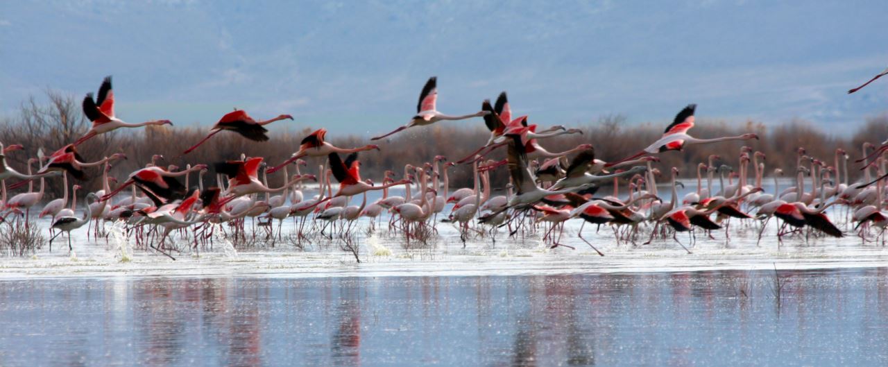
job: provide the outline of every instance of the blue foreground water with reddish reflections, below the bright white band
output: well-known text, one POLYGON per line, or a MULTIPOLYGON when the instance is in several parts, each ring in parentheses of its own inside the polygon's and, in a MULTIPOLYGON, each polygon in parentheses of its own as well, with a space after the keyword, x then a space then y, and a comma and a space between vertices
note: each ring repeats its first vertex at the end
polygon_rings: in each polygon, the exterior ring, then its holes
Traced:
POLYGON ((0 283, 0 365, 885 364, 888 269, 0 283))

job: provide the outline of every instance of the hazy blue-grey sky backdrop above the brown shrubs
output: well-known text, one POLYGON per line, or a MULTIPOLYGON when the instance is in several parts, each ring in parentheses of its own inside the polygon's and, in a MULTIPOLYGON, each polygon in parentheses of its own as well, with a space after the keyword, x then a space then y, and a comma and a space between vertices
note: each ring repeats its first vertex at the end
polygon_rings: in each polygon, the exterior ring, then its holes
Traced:
POLYGON ((0 114, 113 75, 130 122, 237 107, 387 132, 438 76, 450 114, 506 90, 540 124, 665 123, 696 102, 700 117, 844 127, 888 110, 888 80, 845 93, 888 66, 885 14, 884 0, 4 1, 0 114))

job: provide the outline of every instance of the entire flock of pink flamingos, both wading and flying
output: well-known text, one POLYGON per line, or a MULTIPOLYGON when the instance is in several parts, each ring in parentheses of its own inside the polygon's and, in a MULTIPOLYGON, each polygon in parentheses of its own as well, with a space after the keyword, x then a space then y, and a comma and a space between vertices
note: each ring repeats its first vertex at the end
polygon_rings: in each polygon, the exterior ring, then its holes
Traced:
MULTIPOLYGON (((888 69, 849 93, 885 75, 888 75, 888 69)), ((196 247, 199 240, 210 238, 218 227, 225 230, 221 223, 234 228, 229 229, 233 235, 243 236, 244 218, 258 218, 260 223, 266 225, 267 236, 280 238, 282 222, 293 218, 296 220, 294 226, 298 228, 299 241, 311 241, 316 235, 333 240, 335 233, 340 238, 348 236, 361 217, 368 217, 370 229, 375 229, 377 223, 387 216, 389 232, 402 235, 408 243, 437 233, 438 223, 450 222, 458 227, 463 243, 472 233, 483 234, 487 231, 495 236, 497 228, 508 227, 509 235, 516 235, 519 231, 542 226, 543 242, 548 246, 571 247, 561 243, 564 224, 569 219, 579 219, 583 220, 583 227, 585 223, 612 227, 618 244, 621 241, 634 244, 640 229, 650 228, 647 243, 655 237, 671 237, 691 252, 678 240, 678 232, 690 232, 692 242, 697 230, 710 238, 714 238, 714 233, 724 231, 724 237, 728 239, 731 220, 759 219, 759 241, 766 224, 773 217, 780 223, 777 226, 778 243, 785 235, 804 235, 806 239, 812 235, 841 237, 843 231, 827 216, 827 209, 833 205, 844 206, 848 209, 846 213, 852 213, 852 220, 858 223, 854 229, 859 231, 861 238, 866 240, 870 228, 875 228, 878 231, 876 241, 882 236, 884 244, 884 229, 888 227, 888 213, 883 211, 884 179, 888 176, 888 158, 884 157, 884 153, 888 151, 888 142, 880 147, 869 143, 863 146, 863 158, 858 162, 863 163, 864 179, 856 183, 848 182, 849 156, 844 150, 836 150, 832 165, 829 165, 828 160, 806 156, 805 149, 799 148, 796 172, 790 172, 796 176, 796 185, 781 190, 777 176, 783 172, 776 169, 773 170, 773 189, 765 190, 765 154, 743 147, 735 157, 737 171, 726 164, 718 164, 718 156, 710 156, 707 162, 697 164, 694 167, 697 189, 681 199, 678 198, 677 188, 681 183, 676 180, 679 169, 672 167, 669 170, 671 196, 669 200, 664 200, 659 196, 655 181, 658 169, 652 166, 659 161, 656 155, 670 150, 680 151, 690 145, 757 140, 757 135, 747 133, 716 139, 695 138, 688 134, 694 127, 696 106, 691 104, 678 112, 661 139, 639 150, 636 155, 604 162, 595 158, 595 150, 590 144, 564 152, 550 152, 543 148, 539 140, 582 132, 562 126, 542 129, 528 124, 527 116, 513 117, 505 92, 493 104, 484 100, 479 112, 462 116, 440 113, 436 107, 437 99, 437 78, 432 77, 424 85, 416 115, 410 118, 408 124, 372 140, 385 140, 392 134, 439 121, 481 117, 490 131, 488 142, 472 153, 464 152, 467 155, 457 161, 436 156, 432 162, 408 164, 400 179, 395 172, 386 171, 379 185, 373 180, 361 178, 361 161, 358 157, 359 152, 378 150, 379 146, 339 148, 325 139, 325 129, 306 136, 296 153, 274 167, 266 167, 262 157, 244 155, 240 160, 212 164, 216 172, 214 186, 203 186, 203 175, 209 172, 207 164, 188 164, 185 169, 161 166, 158 161, 163 160, 163 156, 156 155, 147 167, 131 172, 123 182, 119 182, 109 173, 112 163, 125 156, 115 154, 97 162, 83 162, 77 153, 77 146, 85 140, 120 128, 171 123, 169 120, 155 120, 130 124, 117 118, 111 77, 108 76, 100 85, 98 94, 87 93, 83 99, 83 115, 92 123, 89 132, 51 155, 44 155, 42 149, 38 151, 36 157, 28 159, 27 174, 13 169, 5 160, 6 155, 23 147, 19 144, 4 146, 0 142, 0 180, 3 182, 0 185, 3 195, 0 218, 4 219, 4 225, 31 226, 29 214, 32 208, 41 203, 46 180, 60 176, 58 180, 64 185, 64 195, 45 203, 38 215, 40 218, 52 218, 49 228, 50 251, 52 240, 62 234, 67 234, 68 249, 73 250, 70 232, 91 222, 95 223, 94 233, 98 234, 100 222, 123 221, 128 233, 135 236, 135 241, 147 243, 155 251, 175 259, 170 253, 175 243, 169 244, 169 236, 174 231, 186 232, 188 228, 193 230, 196 247), (496 162, 485 158, 499 148, 505 148, 505 160, 496 162), (344 155, 345 159, 340 155, 344 155), (568 156, 572 157, 568 159, 568 156), (316 176, 300 172, 300 167, 306 164, 303 158, 312 157, 321 161, 316 176), (748 179, 750 163, 754 172, 752 182, 748 179), (38 165, 36 172, 32 171, 32 164, 38 165), (472 166, 474 185, 450 192, 448 170, 457 164, 472 166), (297 174, 289 176, 290 165, 295 166, 297 174), (503 165, 509 172, 510 183, 505 187, 505 195, 491 196, 490 172, 503 165), (77 215, 77 191, 80 187, 73 185, 69 190, 68 176, 75 180, 86 180, 84 169, 96 166, 102 166, 103 188, 85 195, 83 214, 77 215), (628 169, 621 168, 630 166, 628 169), (872 170, 875 170, 876 178, 872 170), (267 175, 279 171, 289 180, 281 187, 268 187, 267 175), (190 187, 189 177, 195 172, 198 175, 197 185, 190 187), (713 188, 716 175, 718 191, 713 188), (725 184, 725 175, 728 184, 725 184), (338 182, 335 192, 330 176, 338 182), (629 179, 626 180, 628 198, 617 197, 620 178, 629 179), (806 178, 810 188, 806 188, 806 178), (20 180, 11 185, 10 190, 27 185, 28 191, 7 198, 6 180, 10 179, 20 180), (38 179, 39 189, 35 191, 34 181, 38 179), (312 198, 303 196, 305 181, 318 182, 317 195, 312 198), (606 184, 614 185, 614 195, 596 196, 599 186, 606 184), (388 195, 390 187, 399 186, 405 188, 405 195, 388 195), (130 192, 115 201, 115 196, 121 195, 127 187, 131 188, 130 192), (383 197, 368 203, 367 193, 373 190, 382 190, 383 197), (350 204, 357 195, 361 195, 361 203, 350 204), (450 203, 453 205, 446 211, 450 203), (11 220, 10 215, 16 219, 11 220), (438 220, 439 215, 441 220, 438 220), (265 222, 262 222, 263 219, 265 222), (276 234, 274 220, 277 220, 276 234)), ((242 110, 234 110, 222 116, 206 138, 182 154, 194 151, 223 131, 236 132, 245 139, 261 143, 268 140, 264 126, 282 119, 292 120, 292 116, 281 115, 258 121, 242 110)), ((579 238, 603 256, 603 252, 583 238, 583 227, 580 228, 579 238)))

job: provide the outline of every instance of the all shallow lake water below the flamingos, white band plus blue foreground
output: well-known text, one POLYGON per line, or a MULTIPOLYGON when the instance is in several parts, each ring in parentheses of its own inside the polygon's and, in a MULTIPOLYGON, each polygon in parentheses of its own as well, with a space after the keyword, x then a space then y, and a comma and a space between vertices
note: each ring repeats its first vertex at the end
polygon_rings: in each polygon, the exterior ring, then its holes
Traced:
POLYGON ((575 250, 540 231, 463 247, 439 223, 416 249, 359 229, 360 264, 317 237, 235 248, 218 232, 173 261, 122 227, 107 240, 84 227, 76 255, 59 239, 0 259, 0 366, 884 365, 888 249, 830 217, 846 237, 778 246, 772 224, 758 246, 758 224, 735 221, 693 254, 641 244, 649 229, 632 245, 586 226, 605 257, 580 220, 561 240, 575 250), (774 268, 789 279, 779 300, 774 268))

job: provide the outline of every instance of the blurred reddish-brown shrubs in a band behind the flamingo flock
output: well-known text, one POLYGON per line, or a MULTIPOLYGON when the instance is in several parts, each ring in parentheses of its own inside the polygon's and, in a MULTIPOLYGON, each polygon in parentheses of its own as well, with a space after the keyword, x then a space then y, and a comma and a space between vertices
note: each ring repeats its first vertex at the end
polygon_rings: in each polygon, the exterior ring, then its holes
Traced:
MULTIPOLYGON (((83 118, 80 103, 73 96, 64 96, 58 92, 47 92, 47 103, 40 103, 31 98, 22 104, 18 116, 10 116, 0 121, 0 137, 4 144, 19 143, 25 146, 22 152, 14 152, 7 159, 16 169, 27 171, 25 162, 28 157, 36 156, 37 148, 44 148, 47 154, 76 140, 89 129, 89 122, 83 118)), ((379 179, 386 169, 402 172, 404 164, 418 164, 432 160, 433 156, 447 153, 451 160, 462 158, 475 148, 484 144, 489 136, 480 119, 473 128, 467 124, 439 124, 438 126, 413 128, 384 140, 382 151, 361 154, 361 174, 364 177, 379 179), (458 126, 458 128, 457 128, 458 126), (408 148, 402 148, 408 147, 408 148)), ((590 122, 583 128, 583 135, 568 135, 550 140, 543 140, 543 147, 551 151, 566 150, 581 143, 591 143, 596 155, 603 160, 615 160, 644 148, 658 139, 665 126, 665 120, 658 124, 626 124, 622 116, 603 116, 590 122)), ((115 164, 115 176, 123 179, 126 174, 145 166, 150 157, 161 154, 167 157, 165 164, 186 164, 218 162, 236 159, 242 153, 247 156, 264 156, 269 164, 279 164, 296 151, 299 141, 312 132, 315 127, 304 129, 287 129, 274 127, 272 139, 266 143, 245 140, 233 132, 224 132, 215 136, 187 156, 181 152, 202 139, 207 133, 206 127, 182 126, 149 126, 138 130, 118 130, 110 134, 88 140, 80 148, 84 159, 95 161, 102 156, 115 152, 125 153, 129 159, 115 164)), ((385 129, 383 129, 385 130, 385 129)), ((790 165, 795 164, 796 149, 805 147, 808 154, 826 160, 832 164, 836 148, 847 150, 852 159, 860 156, 860 145, 868 140, 878 143, 888 138, 888 116, 878 116, 868 120, 852 138, 843 138, 824 132, 805 121, 795 120, 789 124, 781 124, 768 128, 764 124, 749 121, 745 124, 728 124, 724 121, 698 118, 692 130, 695 136, 710 138, 724 135, 739 135, 744 132, 756 132, 761 140, 747 142, 728 142, 718 145, 706 145, 687 148, 683 152, 667 152, 662 154, 661 167, 676 166, 682 168, 682 176, 694 176, 694 164, 703 162, 706 156, 718 154, 725 157, 726 164, 736 164, 737 153, 743 144, 767 155, 767 172, 773 168, 783 168, 791 172, 790 165)), ((339 147, 351 148, 367 144, 367 139, 360 136, 337 137, 336 133, 328 134, 328 139, 339 147)), ((504 149, 496 152, 494 159, 502 159, 504 149)), ((320 164, 316 159, 309 160, 307 168, 310 173, 317 173, 320 164)), ((852 174, 857 170, 850 169, 852 174)), ((100 170, 91 169, 88 174, 93 180, 82 183, 90 190, 99 188, 100 170)), ((210 172, 212 173, 212 172, 210 172)), ((293 171, 291 170, 292 174, 293 171)), ((494 180, 504 182, 505 170, 498 170, 494 180)), ((452 187, 470 186, 471 169, 458 166, 451 172, 452 187)), ((208 175, 205 179, 214 177, 208 175)), ((281 174, 269 177, 270 184, 277 186, 284 178, 281 174)), ((205 182, 210 183, 211 182, 205 182)), ((61 195, 61 185, 49 185, 48 196, 61 195)))

